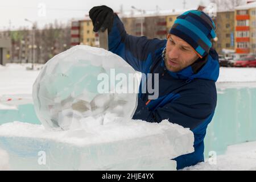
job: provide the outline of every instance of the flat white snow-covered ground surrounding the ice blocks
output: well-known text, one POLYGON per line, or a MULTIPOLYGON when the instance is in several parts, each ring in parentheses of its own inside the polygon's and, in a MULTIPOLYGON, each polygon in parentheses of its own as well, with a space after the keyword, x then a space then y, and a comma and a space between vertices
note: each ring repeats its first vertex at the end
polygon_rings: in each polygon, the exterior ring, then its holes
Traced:
MULTIPOLYGON (((31 65, 7 64, 0 67, 0 109, 14 109, 15 106, 10 104, 14 100, 16 103, 31 102, 32 85, 39 71, 28 71, 26 67, 31 65)), ((224 82, 256 82, 256 68, 221 68, 218 83, 224 82)), ((0 150, 0 162, 5 161, 1 159, 6 159, 6 155, 0 150)), ((0 169, 6 166, 2 163, 0 169)), ((217 156, 216 164, 205 162, 184 170, 256 170, 256 142, 229 146, 225 155, 217 156)))

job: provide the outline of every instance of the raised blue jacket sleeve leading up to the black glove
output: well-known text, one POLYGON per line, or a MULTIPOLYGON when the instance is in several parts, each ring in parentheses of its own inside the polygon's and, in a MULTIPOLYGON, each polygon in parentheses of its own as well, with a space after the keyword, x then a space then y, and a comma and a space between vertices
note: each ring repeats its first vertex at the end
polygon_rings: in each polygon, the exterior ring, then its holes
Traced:
POLYGON ((109 51, 121 56, 136 71, 146 71, 148 65, 152 64, 152 53, 165 44, 166 40, 128 35, 123 23, 115 14, 112 30, 109 32, 109 51))

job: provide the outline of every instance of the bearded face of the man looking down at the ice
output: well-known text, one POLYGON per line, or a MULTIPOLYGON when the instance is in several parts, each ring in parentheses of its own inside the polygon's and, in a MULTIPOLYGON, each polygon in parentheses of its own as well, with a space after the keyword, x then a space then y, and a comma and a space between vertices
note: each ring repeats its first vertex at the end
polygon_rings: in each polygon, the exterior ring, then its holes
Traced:
POLYGON ((170 34, 166 44, 166 68, 171 72, 179 72, 193 64, 199 56, 183 39, 170 34))

